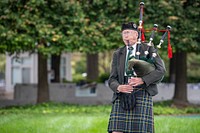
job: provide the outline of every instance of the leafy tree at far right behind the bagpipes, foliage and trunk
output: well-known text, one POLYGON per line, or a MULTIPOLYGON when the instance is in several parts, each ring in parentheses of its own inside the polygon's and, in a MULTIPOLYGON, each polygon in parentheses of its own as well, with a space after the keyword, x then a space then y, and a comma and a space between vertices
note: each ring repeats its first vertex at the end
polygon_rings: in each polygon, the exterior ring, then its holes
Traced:
MULTIPOLYGON (((146 3, 148 22, 171 25, 171 43, 175 52, 175 95, 174 102, 187 103, 187 65, 188 52, 199 53, 199 1, 148 1, 146 3), (164 14, 164 15, 163 15, 164 14)), ((166 47, 164 46, 166 49, 166 47)))

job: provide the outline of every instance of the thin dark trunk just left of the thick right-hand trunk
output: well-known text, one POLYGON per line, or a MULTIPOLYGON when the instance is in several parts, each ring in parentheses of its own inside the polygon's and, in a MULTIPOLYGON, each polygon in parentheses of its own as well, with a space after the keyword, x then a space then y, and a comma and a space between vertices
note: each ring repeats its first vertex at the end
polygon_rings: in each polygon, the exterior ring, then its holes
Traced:
POLYGON ((175 83, 176 78, 176 53, 173 53, 173 55, 169 65, 169 83, 175 83))

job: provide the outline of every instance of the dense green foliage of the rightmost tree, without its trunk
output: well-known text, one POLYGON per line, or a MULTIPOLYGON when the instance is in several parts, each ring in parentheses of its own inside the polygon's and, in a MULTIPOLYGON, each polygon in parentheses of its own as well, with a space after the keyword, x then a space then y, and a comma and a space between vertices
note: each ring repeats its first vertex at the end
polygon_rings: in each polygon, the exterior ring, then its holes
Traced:
MULTIPOLYGON (((157 23, 159 29, 170 25, 171 44, 174 51, 194 51, 199 53, 199 1, 159 0, 145 2, 145 24, 157 23)), ((165 49, 167 45, 164 45, 165 49)))

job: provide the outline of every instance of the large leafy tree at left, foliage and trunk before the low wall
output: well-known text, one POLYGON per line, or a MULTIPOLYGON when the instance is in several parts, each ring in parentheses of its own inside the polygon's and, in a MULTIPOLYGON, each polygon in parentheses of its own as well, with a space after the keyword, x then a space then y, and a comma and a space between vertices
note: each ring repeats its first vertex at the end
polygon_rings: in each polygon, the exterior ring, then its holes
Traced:
POLYGON ((37 102, 48 101, 46 58, 79 48, 77 29, 84 21, 79 2, 5 0, 0 2, 0 14, 1 53, 38 53, 37 102))

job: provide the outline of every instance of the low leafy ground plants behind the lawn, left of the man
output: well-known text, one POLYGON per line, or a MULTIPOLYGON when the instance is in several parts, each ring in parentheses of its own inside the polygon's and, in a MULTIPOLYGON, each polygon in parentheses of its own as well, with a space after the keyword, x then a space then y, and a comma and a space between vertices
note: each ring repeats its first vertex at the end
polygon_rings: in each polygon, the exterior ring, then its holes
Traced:
POLYGON ((110 106, 84 106, 84 105, 72 105, 72 104, 64 104, 64 103, 42 103, 37 105, 26 105, 26 106, 12 106, 0 109, 0 114, 53 114, 53 113, 64 113, 64 114, 79 114, 79 113, 109 113, 110 106))

